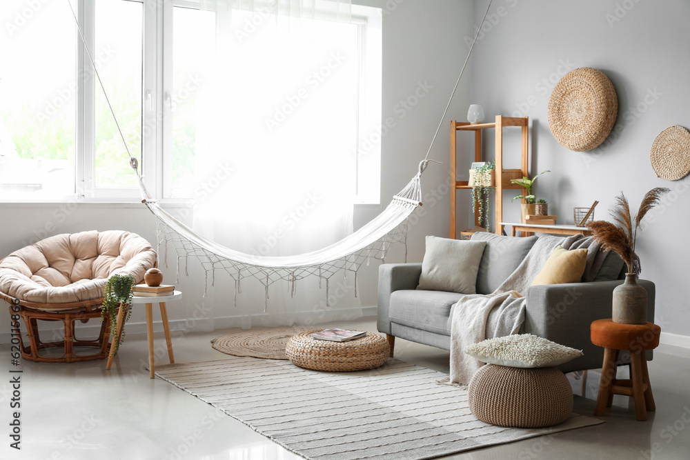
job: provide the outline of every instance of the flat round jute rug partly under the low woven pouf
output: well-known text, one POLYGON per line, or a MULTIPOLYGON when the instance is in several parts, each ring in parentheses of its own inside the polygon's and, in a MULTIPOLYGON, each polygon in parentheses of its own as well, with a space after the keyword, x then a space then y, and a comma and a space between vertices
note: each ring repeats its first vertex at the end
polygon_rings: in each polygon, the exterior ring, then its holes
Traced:
POLYGON ((213 348, 233 356, 263 359, 288 359, 285 345, 290 337, 315 328, 267 328, 251 329, 227 334, 213 339, 213 348))

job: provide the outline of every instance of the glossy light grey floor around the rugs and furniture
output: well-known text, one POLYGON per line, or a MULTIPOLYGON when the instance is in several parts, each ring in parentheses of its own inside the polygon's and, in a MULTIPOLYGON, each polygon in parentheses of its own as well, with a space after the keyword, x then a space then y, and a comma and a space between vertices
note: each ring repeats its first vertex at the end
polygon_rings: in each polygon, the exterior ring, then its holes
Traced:
MULTIPOLYGON (((375 319, 338 323, 375 332, 375 319)), ((210 340, 228 331, 186 334, 175 339, 178 363, 225 359, 210 340)), ((157 363, 166 363, 165 339, 156 334, 157 363)), ((0 459, 302 459, 144 369, 146 336, 123 344, 112 370, 104 361, 52 364, 23 362, 21 450, 9 447, 10 348, 0 346, 0 459)), ((443 350, 399 340, 395 357, 449 371, 443 350)), ((12 367, 12 369, 16 369, 12 367)), ((625 374, 625 368, 620 374, 625 374)), ((450 459, 690 459, 690 350, 660 346, 649 363, 657 410, 635 420, 627 397, 615 397, 588 428, 457 454, 450 459)), ((576 394, 582 380, 569 374, 576 394)), ((598 373, 589 372, 585 397, 575 412, 591 415, 598 373)))

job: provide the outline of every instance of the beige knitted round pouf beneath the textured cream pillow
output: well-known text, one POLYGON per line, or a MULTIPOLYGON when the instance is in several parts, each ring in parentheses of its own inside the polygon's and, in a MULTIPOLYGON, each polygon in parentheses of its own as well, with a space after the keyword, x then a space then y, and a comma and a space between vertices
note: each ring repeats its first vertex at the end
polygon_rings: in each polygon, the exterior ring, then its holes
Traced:
POLYGON ((469 385, 472 414, 511 428, 558 425, 573 412, 573 390, 556 368, 509 368, 487 364, 469 385))

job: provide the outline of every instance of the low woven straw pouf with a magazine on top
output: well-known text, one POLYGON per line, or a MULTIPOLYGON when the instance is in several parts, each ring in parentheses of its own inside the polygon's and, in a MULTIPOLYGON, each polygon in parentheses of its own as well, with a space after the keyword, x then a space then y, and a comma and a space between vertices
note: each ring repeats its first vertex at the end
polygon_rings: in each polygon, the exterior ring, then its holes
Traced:
POLYGON ((311 337, 320 329, 293 335, 285 346, 288 359, 301 368, 314 370, 364 370, 381 366, 391 352, 388 341, 378 334, 346 342, 316 340, 311 337))

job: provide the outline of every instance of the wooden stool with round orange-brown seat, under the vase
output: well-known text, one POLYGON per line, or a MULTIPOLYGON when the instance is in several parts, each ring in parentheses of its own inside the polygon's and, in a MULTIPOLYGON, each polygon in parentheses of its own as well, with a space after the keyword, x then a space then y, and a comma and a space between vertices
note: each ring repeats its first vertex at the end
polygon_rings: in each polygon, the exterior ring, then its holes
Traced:
POLYGON ((646 350, 659 346, 661 328, 654 323, 621 324, 598 319, 591 326, 592 343, 604 347, 604 366, 594 414, 604 415, 613 403, 614 394, 633 397, 638 420, 647 420, 647 410, 656 410, 647 372, 646 350), (630 379, 616 379, 618 352, 630 351, 630 379))

